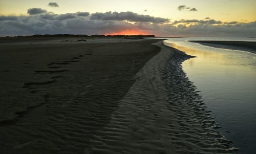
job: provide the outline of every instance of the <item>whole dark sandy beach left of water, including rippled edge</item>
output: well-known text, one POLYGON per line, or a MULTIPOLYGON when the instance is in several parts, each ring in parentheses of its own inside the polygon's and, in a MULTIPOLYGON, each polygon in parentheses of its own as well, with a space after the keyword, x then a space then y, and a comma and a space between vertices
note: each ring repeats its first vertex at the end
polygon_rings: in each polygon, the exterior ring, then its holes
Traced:
POLYGON ((0 151, 238 150, 182 70, 193 56, 156 39, 77 40, 0 43, 0 151))

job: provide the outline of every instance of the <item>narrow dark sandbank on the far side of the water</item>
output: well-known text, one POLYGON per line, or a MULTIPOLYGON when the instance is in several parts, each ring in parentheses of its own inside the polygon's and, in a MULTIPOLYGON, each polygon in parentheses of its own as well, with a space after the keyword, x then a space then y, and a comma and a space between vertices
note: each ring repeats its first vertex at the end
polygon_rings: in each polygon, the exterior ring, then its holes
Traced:
POLYGON ((191 40, 190 42, 200 43, 201 45, 223 48, 244 50, 252 53, 256 53, 256 42, 249 41, 214 41, 214 40, 191 40))

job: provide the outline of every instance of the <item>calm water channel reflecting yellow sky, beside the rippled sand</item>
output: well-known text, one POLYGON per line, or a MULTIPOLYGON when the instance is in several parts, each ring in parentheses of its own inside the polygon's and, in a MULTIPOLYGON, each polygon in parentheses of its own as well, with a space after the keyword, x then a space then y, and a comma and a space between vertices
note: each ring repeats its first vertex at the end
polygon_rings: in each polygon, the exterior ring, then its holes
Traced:
POLYGON ((202 93, 211 115, 218 117, 219 131, 241 148, 256 151, 256 54, 218 49, 188 40, 256 41, 256 38, 170 38, 167 46, 197 56, 182 63, 183 70, 202 93), (226 131, 230 131, 228 133, 226 131))

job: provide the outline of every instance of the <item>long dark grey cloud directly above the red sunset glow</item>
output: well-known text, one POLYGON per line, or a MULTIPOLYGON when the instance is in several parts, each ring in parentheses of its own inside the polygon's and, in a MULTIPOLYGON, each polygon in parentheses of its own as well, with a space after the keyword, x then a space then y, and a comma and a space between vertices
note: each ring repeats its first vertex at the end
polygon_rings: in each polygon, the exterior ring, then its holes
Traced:
POLYGON ((142 15, 133 12, 105 12, 105 13, 93 13, 91 20, 127 20, 132 22, 151 22, 151 23, 165 23, 169 21, 167 18, 154 17, 150 15, 142 15))

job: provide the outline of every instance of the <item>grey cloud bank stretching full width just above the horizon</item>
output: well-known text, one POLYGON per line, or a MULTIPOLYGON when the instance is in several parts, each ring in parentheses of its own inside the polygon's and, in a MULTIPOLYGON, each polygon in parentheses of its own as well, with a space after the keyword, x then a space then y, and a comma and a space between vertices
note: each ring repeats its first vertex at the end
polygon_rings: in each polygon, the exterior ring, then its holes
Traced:
POLYGON ((113 17, 113 13, 99 13, 97 18, 93 18, 95 14, 90 15, 89 12, 65 14, 46 12, 29 16, 0 16, 0 36, 92 35, 119 33, 125 30, 137 30, 157 36, 256 36, 256 21, 251 23, 241 23, 242 21, 240 23, 237 21, 222 23, 222 21, 215 19, 181 19, 173 23, 162 23, 152 16, 148 18, 137 13, 132 13, 135 16, 121 12, 117 14, 117 16, 114 14, 113 17))

